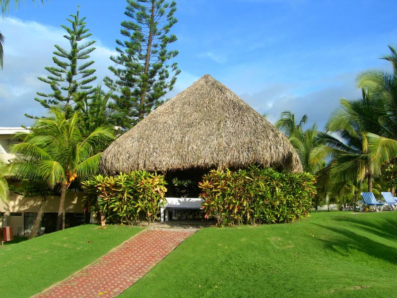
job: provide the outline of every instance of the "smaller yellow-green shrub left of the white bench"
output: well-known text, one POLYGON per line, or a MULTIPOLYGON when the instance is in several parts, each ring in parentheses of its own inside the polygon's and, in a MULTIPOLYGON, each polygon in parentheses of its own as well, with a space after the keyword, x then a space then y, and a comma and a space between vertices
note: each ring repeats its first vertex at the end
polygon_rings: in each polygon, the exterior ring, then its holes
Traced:
POLYGON ((117 176, 97 175, 82 182, 91 212, 101 213, 109 224, 136 224, 158 219, 165 202, 163 175, 144 170, 117 176))

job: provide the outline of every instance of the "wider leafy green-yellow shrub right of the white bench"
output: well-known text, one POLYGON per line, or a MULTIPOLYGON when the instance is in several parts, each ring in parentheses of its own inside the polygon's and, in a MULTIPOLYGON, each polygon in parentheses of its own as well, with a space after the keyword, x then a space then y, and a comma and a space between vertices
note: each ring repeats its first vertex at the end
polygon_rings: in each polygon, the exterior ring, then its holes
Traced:
POLYGON ((211 170, 199 183, 205 218, 217 225, 292 222, 308 214, 316 194, 310 173, 279 173, 250 166, 211 170))

